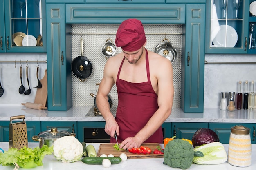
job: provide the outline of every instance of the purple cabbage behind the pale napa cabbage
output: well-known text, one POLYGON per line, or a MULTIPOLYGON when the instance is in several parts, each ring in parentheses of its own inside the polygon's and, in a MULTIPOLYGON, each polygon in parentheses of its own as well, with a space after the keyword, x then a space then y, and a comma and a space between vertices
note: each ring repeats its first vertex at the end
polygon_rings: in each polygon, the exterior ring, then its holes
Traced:
POLYGON ((211 142, 219 142, 220 139, 218 135, 211 129, 200 128, 198 129, 192 137, 192 144, 195 148, 196 146, 201 146, 202 144, 209 144, 211 142))

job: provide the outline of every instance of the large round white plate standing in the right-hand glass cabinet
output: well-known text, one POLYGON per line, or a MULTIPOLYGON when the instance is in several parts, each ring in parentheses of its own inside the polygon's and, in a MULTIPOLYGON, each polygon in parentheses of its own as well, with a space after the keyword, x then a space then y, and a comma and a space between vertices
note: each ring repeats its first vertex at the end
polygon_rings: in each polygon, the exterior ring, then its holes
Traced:
POLYGON ((216 47, 233 48, 236 45, 237 40, 238 40, 237 32, 232 26, 220 25, 220 30, 218 31, 216 37, 213 39, 213 44, 216 47))

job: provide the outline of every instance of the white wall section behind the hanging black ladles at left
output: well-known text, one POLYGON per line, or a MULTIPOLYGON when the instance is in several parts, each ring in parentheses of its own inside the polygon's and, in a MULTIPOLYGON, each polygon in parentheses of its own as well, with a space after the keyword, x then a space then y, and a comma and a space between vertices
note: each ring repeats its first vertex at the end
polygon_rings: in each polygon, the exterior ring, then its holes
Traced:
MULTIPOLYGON (((36 69, 39 65, 39 79, 42 79, 47 68, 47 63, 28 62, 29 85, 31 88, 30 95, 20 95, 18 89, 20 82, 20 62, 1 62, 1 61, 45 61, 46 53, 0 53, 0 79, 4 94, 0 97, 0 105, 20 105, 21 103, 34 102, 36 96, 36 87, 38 82, 36 79, 36 69), (16 67, 15 67, 16 64, 16 67)), ((28 89, 26 77, 26 62, 22 62, 22 82, 25 91, 28 89)))

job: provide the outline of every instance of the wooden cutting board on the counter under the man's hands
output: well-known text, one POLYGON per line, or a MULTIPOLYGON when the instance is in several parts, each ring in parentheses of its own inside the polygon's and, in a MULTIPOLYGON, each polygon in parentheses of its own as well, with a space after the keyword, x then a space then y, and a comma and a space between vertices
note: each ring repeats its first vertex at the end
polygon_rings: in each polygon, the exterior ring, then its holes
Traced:
POLYGON ((146 146, 152 150, 151 154, 134 154, 130 153, 128 150, 115 150, 113 147, 115 144, 100 144, 99 150, 97 153, 97 157, 101 156, 101 154, 113 154, 115 157, 119 157, 121 153, 125 153, 128 159, 136 159, 136 158, 162 158, 163 154, 153 154, 154 150, 159 146, 158 143, 144 143, 141 146, 146 146))

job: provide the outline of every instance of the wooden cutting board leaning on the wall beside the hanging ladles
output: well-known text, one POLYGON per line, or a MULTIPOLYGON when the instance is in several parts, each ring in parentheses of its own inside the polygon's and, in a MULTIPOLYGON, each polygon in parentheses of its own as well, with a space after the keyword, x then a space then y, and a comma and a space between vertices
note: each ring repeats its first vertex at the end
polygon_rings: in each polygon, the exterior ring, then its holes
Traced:
POLYGON ((40 82, 42 83, 42 88, 38 88, 36 90, 36 97, 35 97, 34 103, 42 104, 43 106, 45 106, 46 102, 47 102, 47 95, 48 95, 48 91, 47 91, 47 69, 45 69, 45 75, 44 75, 43 79, 40 80, 40 82))

